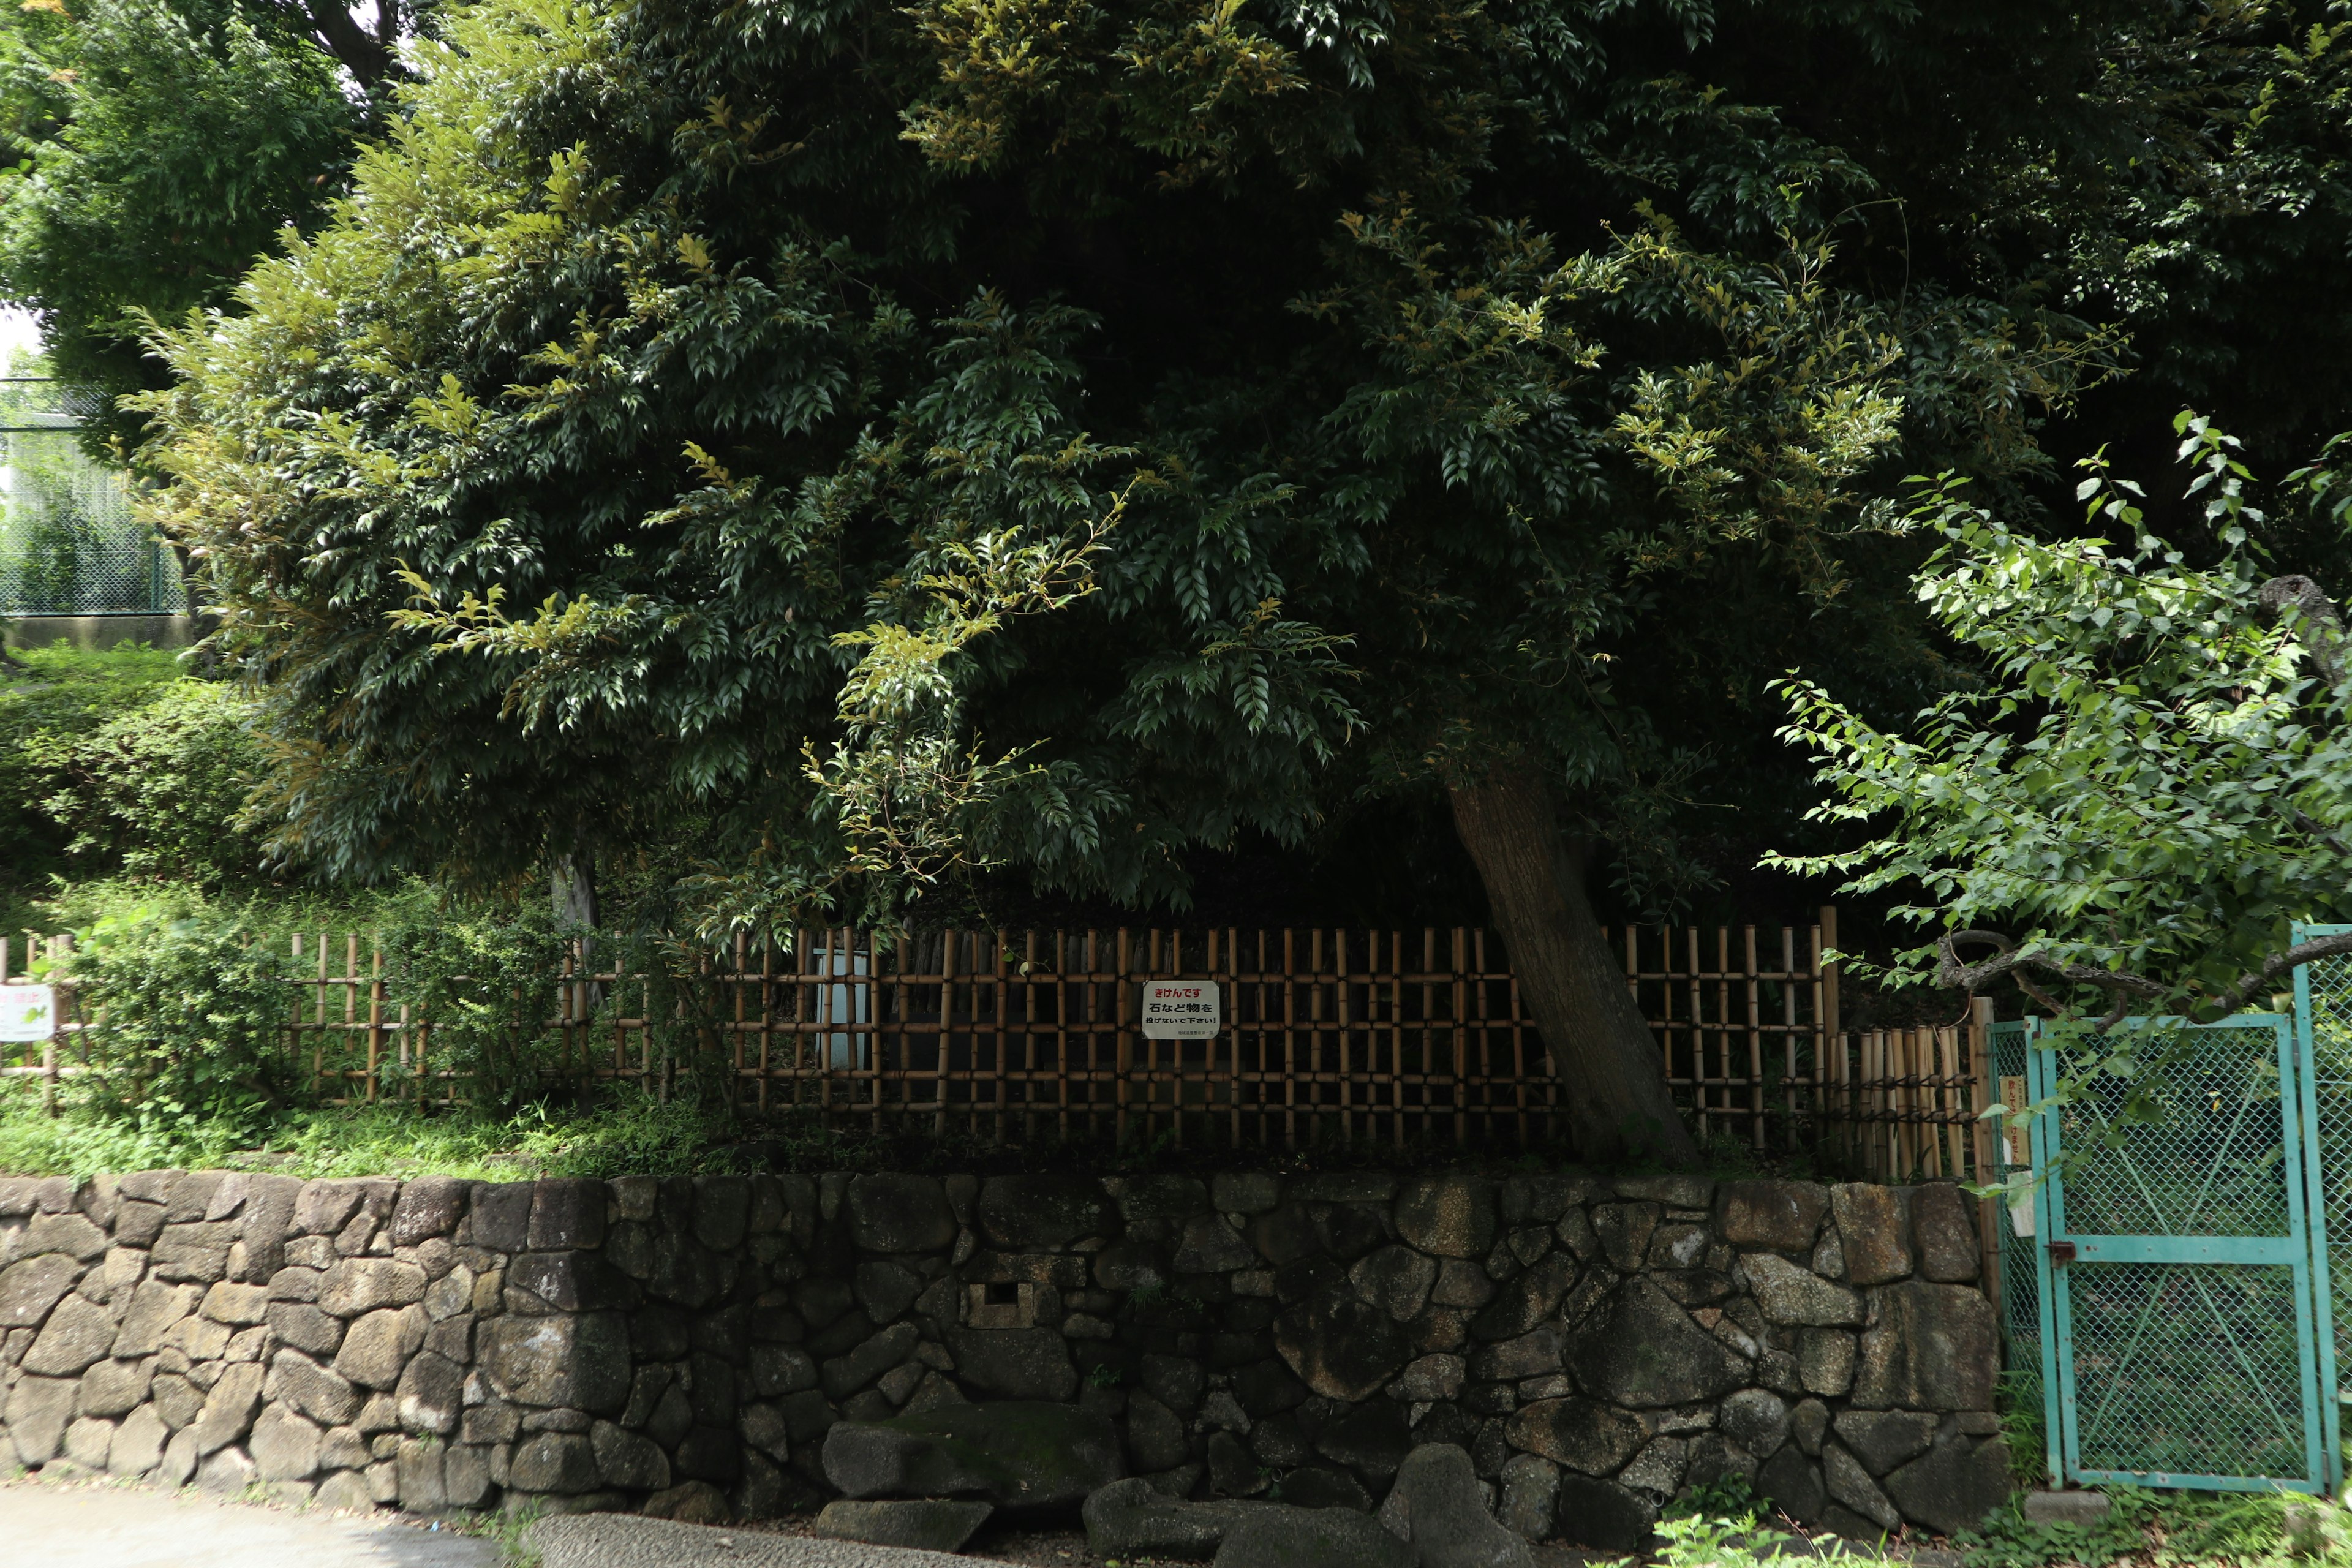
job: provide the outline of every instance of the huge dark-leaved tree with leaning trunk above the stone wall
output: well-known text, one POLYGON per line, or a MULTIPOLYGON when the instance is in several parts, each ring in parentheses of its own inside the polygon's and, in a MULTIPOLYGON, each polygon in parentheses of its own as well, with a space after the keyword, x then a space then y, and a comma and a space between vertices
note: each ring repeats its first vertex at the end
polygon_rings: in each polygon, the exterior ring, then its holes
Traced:
POLYGON ((329 875, 691 816, 722 919, 957 856, 1181 903, 1197 849, 1409 795, 1585 1150, 1684 1159, 1590 877, 1686 879, 1771 675, 1917 658, 1856 590, 1912 564, 1877 496, 2025 494, 2119 353, 1959 240, 2096 129, 2100 26, 487 0, 332 223, 160 343, 160 517, 329 875))

